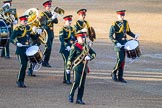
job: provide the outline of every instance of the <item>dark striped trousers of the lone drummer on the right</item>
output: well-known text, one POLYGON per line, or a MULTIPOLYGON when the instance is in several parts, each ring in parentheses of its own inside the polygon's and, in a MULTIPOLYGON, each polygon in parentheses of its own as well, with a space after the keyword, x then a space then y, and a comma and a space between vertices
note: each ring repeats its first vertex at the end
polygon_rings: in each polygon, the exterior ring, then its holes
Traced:
POLYGON ((124 71, 124 65, 125 65, 125 50, 124 48, 121 48, 120 51, 116 52, 117 55, 117 62, 116 65, 112 71, 112 73, 118 72, 118 79, 123 78, 123 71, 124 71))

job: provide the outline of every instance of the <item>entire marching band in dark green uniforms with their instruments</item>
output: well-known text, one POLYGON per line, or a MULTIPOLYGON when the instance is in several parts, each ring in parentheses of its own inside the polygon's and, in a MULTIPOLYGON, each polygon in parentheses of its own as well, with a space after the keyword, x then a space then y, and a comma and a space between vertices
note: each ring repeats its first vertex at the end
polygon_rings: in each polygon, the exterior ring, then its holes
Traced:
MULTIPOLYGON (((58 15, 63 16, 64 25, 59 31, 60 54, 64 61, 63 83, 72 84, 68 101, 73 103, 75 90, 78 88, 77 104, 85 104, 84 94, 86 75, 89 73, 88 63, 96 57, 92 43, 96 39, 94 28, 86 20, 87 9, 79 9, 78 20, 72 26, 73 15, 64 16, 64 10, 52 7, 52 0, 42 3, 44 11, 38 14, 37 8, 30 8, 20 17, 12 8, 12 0, 3 1, 0 10, 0 48, 1 57, 10 58, 9 43, 16 46, 16 55, 20 62, 16 84, 26 88, 25 74, 36 77, 33 71, 41 66, 52 67, 49 64, 54 40, 54 25, 58 24, 58 15), (19 21, 18 21, 19 20, 19 21), (19 25, 16 25, 18 24, 19 25), (15 26, 13 30, 13 26, 15 26), (40 46, 44 45, 42 53, 40 46), (73 73, 74 78, 71 79, 73 73)), ((117 11, 118 20, 110 27, 109 38, 114 44, 117 62, 111 77, 115 82, 127 83, 123 78, 125 56, 135 59, 140 57, 137 38, 138 34, 131 32, 128 21, 124 19, 125 10, 117 11), (127 35, 132 39, 128 40, 127 35)))

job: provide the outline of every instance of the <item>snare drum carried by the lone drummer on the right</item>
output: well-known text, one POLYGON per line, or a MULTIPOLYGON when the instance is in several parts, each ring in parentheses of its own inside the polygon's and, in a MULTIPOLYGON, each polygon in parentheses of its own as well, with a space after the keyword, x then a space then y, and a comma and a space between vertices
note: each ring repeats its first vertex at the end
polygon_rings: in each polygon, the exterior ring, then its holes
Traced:
POLYGON ((125 43, 124 49, 127 53, 128 58, 135 59, 141 56, 141 51, 139 48, 139 42, 137 40, 129 40, 125 43))

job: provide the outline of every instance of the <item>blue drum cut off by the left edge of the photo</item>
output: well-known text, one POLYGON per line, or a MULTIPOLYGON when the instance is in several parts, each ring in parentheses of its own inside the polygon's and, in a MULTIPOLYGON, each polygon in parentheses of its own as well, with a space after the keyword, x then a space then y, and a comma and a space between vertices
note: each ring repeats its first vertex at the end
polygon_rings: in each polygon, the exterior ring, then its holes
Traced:
POLYGON ((2 19, 0 19, 0 48, 6 47, 8 41, 9 31, 7 25, 2 19))

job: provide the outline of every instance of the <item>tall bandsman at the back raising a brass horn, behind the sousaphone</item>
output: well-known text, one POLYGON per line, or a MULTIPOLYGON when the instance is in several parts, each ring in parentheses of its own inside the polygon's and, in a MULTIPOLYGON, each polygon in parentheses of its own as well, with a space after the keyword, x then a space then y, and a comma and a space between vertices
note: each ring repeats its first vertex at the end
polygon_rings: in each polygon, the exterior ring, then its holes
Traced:
POLYGON ((45 23, 43 23, 42 26, 47 30, 48 33, 48 41, 46 44, 46 49, 44 51, 44 61, 42 63, 42 66, 45 67, 51 67, 51 65, 49 64, 49 60, 54 39, 53 24, 58 23, 57 14, 52 13, 50 10, 51 3, 51 0, 44 2, 43 6, 45 7, 45 11, 41 13, 41 19, 45 19, 45 23))

